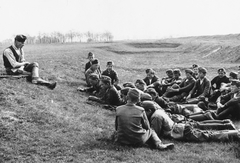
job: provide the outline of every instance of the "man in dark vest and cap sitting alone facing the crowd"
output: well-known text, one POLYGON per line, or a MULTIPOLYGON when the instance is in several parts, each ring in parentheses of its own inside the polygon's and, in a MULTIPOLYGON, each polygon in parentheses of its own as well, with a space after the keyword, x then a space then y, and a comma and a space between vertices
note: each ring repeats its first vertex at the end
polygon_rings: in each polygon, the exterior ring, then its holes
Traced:
POLYGON ((3 52, 4 67, 8 75, 25 74, 31 76, 33 84, 45 85, 50 89, 54 89, 56 82, 50 83, 39 77, 39 65, 37 62, 29 63, 25 61, 23 46, 27 39, 24 35, 17 35, 14 44, 6 48, 3 52))

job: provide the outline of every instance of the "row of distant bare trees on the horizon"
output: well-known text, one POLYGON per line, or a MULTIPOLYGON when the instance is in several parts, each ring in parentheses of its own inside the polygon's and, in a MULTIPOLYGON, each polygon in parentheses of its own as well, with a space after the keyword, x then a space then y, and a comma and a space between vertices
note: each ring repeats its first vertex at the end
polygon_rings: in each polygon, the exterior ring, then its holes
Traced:
MULTIPOLYGON (((112 42, 113 35, 111 32, 93 33, 93 32, 76 32, 68 31, 67 33, 52 32, 38 33, 37 36, 26 35, 26 44, 51 44, 51 43, 73 43, 73 42, 112 42)), ((15 36, 13 36, 14 38, 15 36)), ((12 43, 12 39, 6 39, 2 43, 12 43)))

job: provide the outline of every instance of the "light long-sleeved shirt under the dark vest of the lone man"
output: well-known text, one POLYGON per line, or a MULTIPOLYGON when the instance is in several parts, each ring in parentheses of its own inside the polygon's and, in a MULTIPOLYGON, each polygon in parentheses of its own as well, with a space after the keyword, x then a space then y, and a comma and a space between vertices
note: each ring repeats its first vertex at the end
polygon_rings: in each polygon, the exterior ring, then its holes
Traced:
MULTIPOLYGON (((23 49, 20 49, 20 48, 17 48, 14 44, 12 45, 13 49, 16 51, 16 53, 19 55, 19 62, 24 62, 25 61, 25 58, 24 58, 24 51, 23 49)), ((9 61, 9 63, 12 65, 12 71, 15 72, 17 71, 18 69, 23 69, 23 66, 22 67, 17 67, 16 63, 18 63, 16 61, 16 58, 14 57, 14 54, 12 52, 12 50, 10 48, 7 48, 4 50, 3 52, 3 55, 5 55, 9 61)))

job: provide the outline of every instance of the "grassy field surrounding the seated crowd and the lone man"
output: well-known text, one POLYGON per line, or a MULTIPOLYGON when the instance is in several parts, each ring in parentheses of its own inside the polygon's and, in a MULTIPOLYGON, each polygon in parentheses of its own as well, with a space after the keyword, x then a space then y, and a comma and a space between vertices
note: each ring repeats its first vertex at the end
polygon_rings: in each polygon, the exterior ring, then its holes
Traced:
POLYGON ((146 68, 163 77, 168 68, 183 70, 193 63, 206 67, 210 79, 220 67, 236 71, 240 41, 229 37, 26 45, 27 60, 37 61, 40 75, 58 85, 49 90, 25 79, 0 80, 0 162, 240 162, 239 142, 163 140, 175 143, 164 152, 113 144, 115 113, 76 91, 85 86, 89 51, 102 69, 114 61, 121 83, 144 78, 146 68))

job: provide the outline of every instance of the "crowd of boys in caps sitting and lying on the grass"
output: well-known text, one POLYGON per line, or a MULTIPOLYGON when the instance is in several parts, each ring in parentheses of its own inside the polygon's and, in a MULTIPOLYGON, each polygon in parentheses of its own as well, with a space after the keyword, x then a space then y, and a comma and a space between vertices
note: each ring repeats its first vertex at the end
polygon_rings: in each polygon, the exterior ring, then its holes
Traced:
POLYGON ((167 136, 187 141, 239 140, 240 132, 229 118, 240 119, 240 81, 237 73, 226 76, 224 68, 209 80, 207 70, 194 64, 185 70, 169 69, 160 80, 153 69, 146 70, 144 79, 119 86, 113 62, 101 73, 99 61, 89 53, 90 65, 85 69, 89 100, 116 107, 116 142, 172 149, 162 144, 167 136), (151 142, 151 143, 149 143, 151 142))

